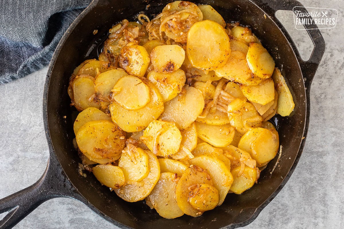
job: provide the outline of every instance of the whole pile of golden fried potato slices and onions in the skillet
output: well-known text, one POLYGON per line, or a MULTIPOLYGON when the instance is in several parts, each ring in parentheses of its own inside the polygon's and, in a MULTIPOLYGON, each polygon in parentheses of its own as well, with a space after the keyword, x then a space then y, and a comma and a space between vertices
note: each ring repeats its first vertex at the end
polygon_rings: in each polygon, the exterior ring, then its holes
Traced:
POLYGON ((254 188, 279 149, 267 121, 295 107, 250 28, 187 1, 115 24, 98 59, 73 71, 68 95, 82 163, 118 197, 168 219, 254 188))

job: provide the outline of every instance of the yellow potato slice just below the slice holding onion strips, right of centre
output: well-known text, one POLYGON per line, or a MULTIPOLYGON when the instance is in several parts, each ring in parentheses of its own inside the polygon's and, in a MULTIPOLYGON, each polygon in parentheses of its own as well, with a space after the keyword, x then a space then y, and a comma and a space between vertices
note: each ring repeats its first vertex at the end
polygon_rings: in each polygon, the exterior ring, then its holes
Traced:
POLYGON ((215 147, 225 147, 232 142, 234 128, 229 125, 209 125, 196 122, 198 137, 215 147))

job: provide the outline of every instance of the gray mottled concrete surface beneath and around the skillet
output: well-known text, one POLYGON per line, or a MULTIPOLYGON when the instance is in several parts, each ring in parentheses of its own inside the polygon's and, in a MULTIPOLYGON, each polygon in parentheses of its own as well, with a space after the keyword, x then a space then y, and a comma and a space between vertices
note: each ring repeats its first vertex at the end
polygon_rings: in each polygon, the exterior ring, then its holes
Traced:
MULTIPOLYGON (((301 1, 308 7, 338 10, 334 29, 322 30, 326 52, 311 89, 311 120, 300 162, 275 199, 245 228, 344 228, 343 126, 344 45, 341 1, 301 1)), ((312 44, 293 25, 292 13, 278 12, 303 56, 312 44)), ((40 178, 49 156, 42 122, 47 68, 0 85, 0 198, 40 178)), ((3 214, 0 215, 2 218, 3 214)), ((83 204, 52 199, 23 219, 17 229, 116 228, 83 204)))

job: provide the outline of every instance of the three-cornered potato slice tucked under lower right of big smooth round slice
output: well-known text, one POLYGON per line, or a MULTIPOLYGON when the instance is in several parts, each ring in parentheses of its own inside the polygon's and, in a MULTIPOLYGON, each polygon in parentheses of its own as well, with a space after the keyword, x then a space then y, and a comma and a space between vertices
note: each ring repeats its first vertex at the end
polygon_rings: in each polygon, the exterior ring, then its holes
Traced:
POLYGON ((218 77, 224 77, 243 84, 252 78, 252 72, 247 65, 245 53, 237 50, 232 50, 225 65, 217 68, 215 73, 218 77))

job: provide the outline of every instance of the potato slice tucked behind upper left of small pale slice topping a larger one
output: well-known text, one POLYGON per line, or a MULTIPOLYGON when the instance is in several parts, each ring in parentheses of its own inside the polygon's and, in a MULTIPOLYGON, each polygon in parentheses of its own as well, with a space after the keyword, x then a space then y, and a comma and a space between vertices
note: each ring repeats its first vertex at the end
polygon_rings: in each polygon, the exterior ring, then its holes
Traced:
POLYGON ((124 76, 128 76, 128 73, 122 69, 111 69, 100 73, 94 80, 96 95, 101 99, 107 100, 109 93, 114 88, 117 81, 124 76))

